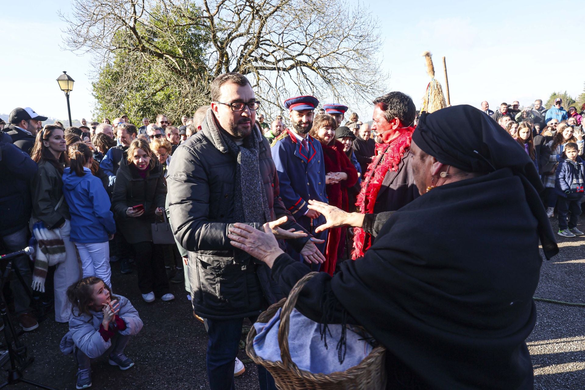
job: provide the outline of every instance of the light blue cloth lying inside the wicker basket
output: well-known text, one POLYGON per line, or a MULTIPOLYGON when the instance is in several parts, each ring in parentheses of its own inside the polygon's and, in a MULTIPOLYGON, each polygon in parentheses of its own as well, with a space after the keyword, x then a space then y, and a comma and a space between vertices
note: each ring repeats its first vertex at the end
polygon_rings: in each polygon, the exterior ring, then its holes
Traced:
MULTIPOLYGON (((267 323, 254 323, 256 337, 254 337, 254 351, 256 355, 269 361, 282 361, 280 358, 280 347, 278 347, 278 326, 280 326, 280 315, 282 308, 267 323)), ((341 325, 328 325, 331 334, 327 332, 327 346, 321 339, 321 329, 316 323, 300 312, 293 309, 290 316, 288 332, 288 347, 292 361, 297 364, 300 370, 309 371, 313 374, 322 372, 345 371, 347 368, 359 364, 372 350, 368 340, 362 334, 352 330, 347 325, 346 340, 347 351, 343 363, 339 363, 336 345, 341 337, 341 325)))

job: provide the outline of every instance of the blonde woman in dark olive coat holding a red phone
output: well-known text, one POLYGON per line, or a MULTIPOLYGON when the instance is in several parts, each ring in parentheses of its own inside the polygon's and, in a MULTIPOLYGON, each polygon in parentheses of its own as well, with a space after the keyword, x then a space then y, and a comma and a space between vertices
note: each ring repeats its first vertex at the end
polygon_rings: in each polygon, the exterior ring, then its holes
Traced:
POLYGON ((167 188, 161 164, 156 161, 149 143, 132 141, 127 151, 128 163, 120 164, 113 187, 112 205, 120 232, 135 250, 138 287, 142 299, 153 302, 174 299, 170 294, 164 256, 152 242, 150 225, 155 215, 162 216, 167 188))

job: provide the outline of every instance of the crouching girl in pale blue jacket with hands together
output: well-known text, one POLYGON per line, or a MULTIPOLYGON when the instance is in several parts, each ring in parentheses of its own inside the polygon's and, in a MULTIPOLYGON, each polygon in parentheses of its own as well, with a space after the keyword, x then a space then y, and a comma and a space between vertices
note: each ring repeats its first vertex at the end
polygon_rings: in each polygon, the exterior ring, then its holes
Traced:
POLYGON ((77 388, 91 386, 91 361, 98 357, 108 356, 108 363, 121 370, 132 367, 134 362, 124 354, 124 348, 143 326, 132 303, 123 296, 113 296, 109 286, 97 277, 72 284, 67 298, 73 308, 69 332, 60 348, 66 355, 73 353, 77 360, 77 388))

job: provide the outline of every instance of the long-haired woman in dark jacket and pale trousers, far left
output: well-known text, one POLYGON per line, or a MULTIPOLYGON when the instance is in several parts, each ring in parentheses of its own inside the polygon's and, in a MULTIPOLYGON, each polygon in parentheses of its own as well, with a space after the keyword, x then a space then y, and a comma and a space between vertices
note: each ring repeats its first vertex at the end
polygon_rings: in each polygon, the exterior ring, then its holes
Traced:
MULTIPOLYGON (((57 322, 69 321, 71 304, 67 299, 67 288, 80 278, 75 245, 70 240, 71 214, 63 194, 62 175, 69 165, 66 149, 63 129, 55 125, 45 125, 37 133, 35 147, 30 156, 39 165, 30 185, 33 203, 31 225, 40 227, 37 222, 42 222, 42 227, 60 236, 65 247, 65 260, 57 264, 54 274, 57 322)), ((33 273, 33 283, 36 289, 44 289, 44 275, 33 273)))

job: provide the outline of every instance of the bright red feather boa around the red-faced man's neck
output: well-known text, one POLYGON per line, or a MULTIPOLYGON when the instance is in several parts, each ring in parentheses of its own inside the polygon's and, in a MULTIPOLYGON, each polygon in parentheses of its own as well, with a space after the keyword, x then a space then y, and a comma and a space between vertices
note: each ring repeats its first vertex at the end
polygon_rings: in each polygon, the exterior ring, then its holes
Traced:
MULTIPOLYGON (((398 171, 398 164, 404 156, 404 152, 410 147, 414 127, 401 129, 400 135, 390 143, 376 144, 376 158, 367 168, 366 177, 362 181, 362 191, 357 195, 356 206, 362 214, 374 213, 374 205, 382 182, 388 171, 398 171), (384 161, 380 163, 380 160, 384 161)), ((371 234, 364 232, 361 227, 356 227, 353 236, 352 259, 363 257, 364 252, 371 246, 371 234)))

